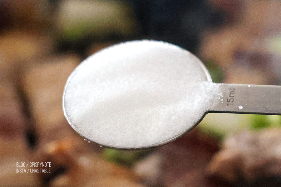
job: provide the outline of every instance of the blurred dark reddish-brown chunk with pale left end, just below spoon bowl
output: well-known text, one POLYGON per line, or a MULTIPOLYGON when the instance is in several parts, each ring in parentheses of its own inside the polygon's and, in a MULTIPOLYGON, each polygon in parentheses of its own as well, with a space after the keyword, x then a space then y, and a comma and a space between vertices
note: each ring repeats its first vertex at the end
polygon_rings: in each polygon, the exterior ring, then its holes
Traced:
POLYGON ((137 163, 136 174, 152 186, 211 187, 205 168, 219 151, 218 141, 198 128, 158 148, 146 160, 137 163))

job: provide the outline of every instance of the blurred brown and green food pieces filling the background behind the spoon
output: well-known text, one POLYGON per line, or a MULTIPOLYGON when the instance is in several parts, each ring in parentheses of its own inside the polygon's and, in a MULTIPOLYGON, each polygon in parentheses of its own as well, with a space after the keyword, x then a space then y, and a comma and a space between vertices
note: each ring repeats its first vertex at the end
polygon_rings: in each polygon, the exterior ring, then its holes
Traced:
POLYGON ((280 10, 279 0, 0 0, 0 186, 280 186, 280 116, 212 113, 165 146, 122 151, 84 140, 62 112, 72 70, 129 40, 190 50, 217 83, 279 85, 280 10), (17 173, 17 162, 51 172, 17 173))

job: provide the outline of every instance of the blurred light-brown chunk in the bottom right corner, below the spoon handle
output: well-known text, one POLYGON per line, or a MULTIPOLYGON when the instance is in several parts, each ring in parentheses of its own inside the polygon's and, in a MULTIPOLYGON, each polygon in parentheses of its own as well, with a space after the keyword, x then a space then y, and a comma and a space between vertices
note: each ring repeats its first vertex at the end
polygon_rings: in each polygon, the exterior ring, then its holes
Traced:
POLYGON ((281 185, 281 130, 229 137, 207 167, 207 175, 234 186, 281 185))

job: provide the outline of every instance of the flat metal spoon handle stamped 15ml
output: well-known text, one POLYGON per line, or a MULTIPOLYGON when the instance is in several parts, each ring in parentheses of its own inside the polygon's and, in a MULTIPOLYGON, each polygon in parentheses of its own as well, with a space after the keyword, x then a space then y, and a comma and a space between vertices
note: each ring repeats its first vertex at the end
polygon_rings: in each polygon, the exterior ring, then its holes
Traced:
POLYGON ((281 115, 281 86, 219 84, 223 97, 209 112, 281 115))

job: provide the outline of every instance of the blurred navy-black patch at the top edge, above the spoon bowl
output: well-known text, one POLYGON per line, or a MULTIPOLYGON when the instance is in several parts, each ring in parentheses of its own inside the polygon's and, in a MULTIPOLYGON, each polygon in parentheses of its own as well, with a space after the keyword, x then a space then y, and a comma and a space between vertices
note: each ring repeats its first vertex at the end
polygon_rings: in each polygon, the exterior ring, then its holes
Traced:
POLYGON ((224 22, 222 12, 205 0, 128 0, 132 2, 143 37, 166 41, 195 52, 201 32, 224 22))

